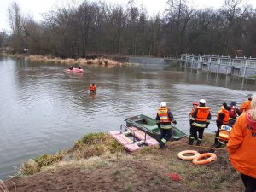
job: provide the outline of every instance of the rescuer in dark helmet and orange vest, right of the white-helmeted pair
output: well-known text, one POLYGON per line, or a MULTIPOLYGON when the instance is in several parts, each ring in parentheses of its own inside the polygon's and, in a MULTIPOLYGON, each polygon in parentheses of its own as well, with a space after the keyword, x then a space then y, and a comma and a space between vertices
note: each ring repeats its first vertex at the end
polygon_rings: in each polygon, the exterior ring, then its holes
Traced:
POLYGON ((217 114, 216 125, 217 131, 214 139, 214 146, 217 148, 221 147, 221 143, 218 142, 219 130, 221 125, 229 125, 230 124, 230 113, 227 110, 228 105, 226 102, 222 103, 222 106, 217 114))

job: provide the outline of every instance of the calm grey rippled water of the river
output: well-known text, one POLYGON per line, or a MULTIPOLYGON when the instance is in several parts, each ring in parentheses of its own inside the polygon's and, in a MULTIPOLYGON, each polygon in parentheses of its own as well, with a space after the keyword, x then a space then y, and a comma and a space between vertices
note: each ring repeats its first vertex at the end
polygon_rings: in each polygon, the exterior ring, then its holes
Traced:
MULTIPOLYGON (((241 102, 255 95, 255 82, 177 66, 137 65, 84 67, 65 73, 65 66, 35 64, 0 57, 0 178, 29 158, 73 146, 85 133, 119 130, 125 117, 155 117, 160 102, 171 108, 177 127, 188 133, 188 113, 201 98, 212 107, 212 123, 222 102, 241 102), (97 85, 96 95, 88 93, 97 85)), ((213 140, 213 138, 212 138, 213 140)))

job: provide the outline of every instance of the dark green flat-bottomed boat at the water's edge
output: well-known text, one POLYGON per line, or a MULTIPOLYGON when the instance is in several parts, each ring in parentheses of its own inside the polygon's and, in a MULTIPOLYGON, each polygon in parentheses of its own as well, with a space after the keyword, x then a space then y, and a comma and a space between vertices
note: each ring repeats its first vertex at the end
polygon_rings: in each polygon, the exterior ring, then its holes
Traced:
MULTIPOLYGON (((127 127, 135 126, 142 131, 146 131, 148 135, 155 139, 160 138, 160 129, 156 125, 156 121, 144 114, 139 114, 125 119, 127 127)), ((171 140, 179 140, 186 137, 187 134, 179 130, 177 127, 172 126, 171 140)))

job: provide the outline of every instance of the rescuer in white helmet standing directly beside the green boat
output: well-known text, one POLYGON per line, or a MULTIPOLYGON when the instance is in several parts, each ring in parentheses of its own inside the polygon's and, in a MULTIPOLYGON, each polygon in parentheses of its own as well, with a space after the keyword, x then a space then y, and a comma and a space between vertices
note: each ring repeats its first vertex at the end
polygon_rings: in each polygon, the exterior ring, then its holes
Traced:
POLYGON ((166 102, 160 103, 160 108, 158 109, 155 120, 160 129, 160 148, 165 148, 166 142, 172 137, 171 122, 177 124, 177 121, 173 118, 172 112, 166 107, 166 102))

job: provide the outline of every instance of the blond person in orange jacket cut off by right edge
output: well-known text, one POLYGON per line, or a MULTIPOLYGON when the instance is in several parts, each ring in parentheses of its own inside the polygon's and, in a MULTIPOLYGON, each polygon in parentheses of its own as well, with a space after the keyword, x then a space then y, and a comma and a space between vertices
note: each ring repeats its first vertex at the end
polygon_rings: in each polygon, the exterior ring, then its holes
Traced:
POLYGON ((227 145, 231 165, 241 172, 246 192, 256 191, 256 97, 236 120, 227 145))

